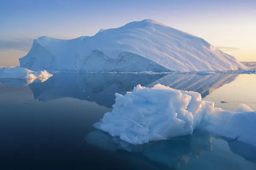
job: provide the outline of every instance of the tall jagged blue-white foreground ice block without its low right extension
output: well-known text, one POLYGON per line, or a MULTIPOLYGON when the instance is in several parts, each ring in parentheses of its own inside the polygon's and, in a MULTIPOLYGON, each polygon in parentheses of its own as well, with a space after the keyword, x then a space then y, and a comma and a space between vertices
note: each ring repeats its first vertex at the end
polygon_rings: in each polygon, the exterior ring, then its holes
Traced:
POLYGON ((192 134, 202 114, 214 108, 199 93, 160 84, 153 88, 137 85, 132 93, 115 95, 113 111, 94 126, 132 144, 192 134))

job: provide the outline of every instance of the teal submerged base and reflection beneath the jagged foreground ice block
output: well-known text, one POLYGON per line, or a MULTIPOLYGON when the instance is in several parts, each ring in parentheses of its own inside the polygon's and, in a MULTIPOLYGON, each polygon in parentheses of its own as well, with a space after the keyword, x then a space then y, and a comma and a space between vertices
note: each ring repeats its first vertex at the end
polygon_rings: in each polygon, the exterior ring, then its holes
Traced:
POLYGON ((202 156, 203 151, 212 150, 212 137, 205 131, 195 131, 192 135, 137 146, 128 144, 99 130, 89 133, 85 140, 88 144, 104 150, 128 150, 164 167, 175 169, 179 169, 180 164, 187 164, 190 157, 199 157, 202 156))

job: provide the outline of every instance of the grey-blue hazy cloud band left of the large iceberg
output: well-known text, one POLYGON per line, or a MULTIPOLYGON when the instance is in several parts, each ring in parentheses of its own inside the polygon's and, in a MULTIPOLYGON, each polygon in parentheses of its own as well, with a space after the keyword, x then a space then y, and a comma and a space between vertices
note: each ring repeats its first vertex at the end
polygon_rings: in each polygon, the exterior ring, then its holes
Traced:
POLYGON ((32 47, 33 39, 18 38, 18 39, 3 39, 0 38, 0 50, 21 50, 29 51, 32 47))

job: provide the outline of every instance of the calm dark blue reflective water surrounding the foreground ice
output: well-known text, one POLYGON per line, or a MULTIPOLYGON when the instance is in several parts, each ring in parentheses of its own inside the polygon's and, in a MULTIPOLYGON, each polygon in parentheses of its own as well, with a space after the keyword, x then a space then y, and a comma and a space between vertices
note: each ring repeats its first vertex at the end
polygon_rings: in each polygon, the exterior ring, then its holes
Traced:
POLYGON ((111 111, 114 93, 158 83, 197 91, 226 110, 242 103, 256 110, 255 74, 65 73, 31 84, 0 79, 0 170, 256 170, 256 148, 204 131, 134 147, 92 127, 111 111), (224 99, 229 102, 220 103, 224 99))

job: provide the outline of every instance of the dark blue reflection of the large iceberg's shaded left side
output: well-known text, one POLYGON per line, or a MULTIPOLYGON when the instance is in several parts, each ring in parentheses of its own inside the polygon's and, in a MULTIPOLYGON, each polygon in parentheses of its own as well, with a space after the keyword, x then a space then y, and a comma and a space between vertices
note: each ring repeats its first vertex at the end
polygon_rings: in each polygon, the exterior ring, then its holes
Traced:
POLYGON ((43 83, 32 83, 29 87, 35 99, 41 101, 72 97, 111 108, 115 102, 115 93, 126 94, 126 91, 131 91, 138 84, 147 85, 163 76, 63 73, 56 74, 43 83))

